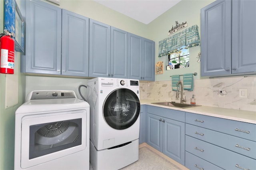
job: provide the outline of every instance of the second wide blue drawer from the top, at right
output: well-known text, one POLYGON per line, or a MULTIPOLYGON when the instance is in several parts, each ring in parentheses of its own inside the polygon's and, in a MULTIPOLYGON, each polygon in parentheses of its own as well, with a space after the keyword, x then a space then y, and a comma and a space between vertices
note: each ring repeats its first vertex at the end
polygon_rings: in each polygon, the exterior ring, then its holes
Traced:
POLYGON ((256 159, 256 142, 186 124, 186 134, 256 159))

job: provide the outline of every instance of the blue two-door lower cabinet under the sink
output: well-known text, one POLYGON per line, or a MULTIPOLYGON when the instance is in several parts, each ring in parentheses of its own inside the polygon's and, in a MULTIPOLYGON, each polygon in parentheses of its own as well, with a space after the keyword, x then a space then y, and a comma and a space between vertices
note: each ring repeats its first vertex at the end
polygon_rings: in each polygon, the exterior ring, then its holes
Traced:
MULTIPOLYGON (((155 107, 151 107, 156 109, 155 107)), ((163 108, 161 108, 163 109, 163 108)), ((172 115, 171 109, 164 109, 172 115)), ((162 113, 162 112, 161 112, 162 113)), ((180 111, 180 116, 184 116, 180 111)), ((160 112, 156 113, 160 114, 160 112)), ((146 142, 156 150, 159 150, 166 156, 185 165, 185 123, 147 113, 147 134, 146 142)))

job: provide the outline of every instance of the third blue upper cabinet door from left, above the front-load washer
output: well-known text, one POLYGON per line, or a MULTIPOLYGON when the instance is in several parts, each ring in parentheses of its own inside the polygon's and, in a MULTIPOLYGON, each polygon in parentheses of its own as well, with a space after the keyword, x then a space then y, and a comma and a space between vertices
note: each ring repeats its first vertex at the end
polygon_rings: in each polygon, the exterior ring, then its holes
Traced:
POLYGON ((110 26, 89 22, 89 76, 110 77, 110 26))

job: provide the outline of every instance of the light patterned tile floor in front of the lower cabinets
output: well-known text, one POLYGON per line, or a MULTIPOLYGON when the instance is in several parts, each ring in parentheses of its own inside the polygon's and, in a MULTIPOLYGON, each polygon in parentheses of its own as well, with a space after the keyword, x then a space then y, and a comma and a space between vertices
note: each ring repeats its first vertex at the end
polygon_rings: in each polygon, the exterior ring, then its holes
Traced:
MULTIPOLYGON (((90 170, 93 170, 90 165, 90 170)), ((139 149, 139 160, 121 170, 182 170, 147 147, 139 149)))

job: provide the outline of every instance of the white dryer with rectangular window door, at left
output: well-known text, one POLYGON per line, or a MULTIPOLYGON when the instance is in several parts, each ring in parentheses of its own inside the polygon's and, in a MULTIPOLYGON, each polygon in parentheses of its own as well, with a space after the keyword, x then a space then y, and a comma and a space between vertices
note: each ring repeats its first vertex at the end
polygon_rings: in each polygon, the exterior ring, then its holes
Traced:
POLYGON ((32 91, 15 112, 15 170, 89 169, 90 106, 74 91, 32 91))

